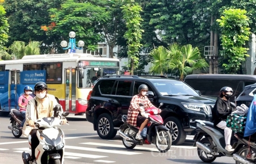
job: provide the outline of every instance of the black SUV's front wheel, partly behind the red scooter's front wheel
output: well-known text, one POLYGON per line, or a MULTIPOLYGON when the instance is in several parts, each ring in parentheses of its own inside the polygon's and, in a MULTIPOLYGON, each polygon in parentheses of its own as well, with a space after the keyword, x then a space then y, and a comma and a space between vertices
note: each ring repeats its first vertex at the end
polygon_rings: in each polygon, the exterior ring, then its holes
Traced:
POLYGON ((184 143, 187 135, 183 130, 181 121, 176 117, 168 117, 164 120, 164 125, 170 129, 169 132, 172 136, 172 145, 181 145, 184 143))

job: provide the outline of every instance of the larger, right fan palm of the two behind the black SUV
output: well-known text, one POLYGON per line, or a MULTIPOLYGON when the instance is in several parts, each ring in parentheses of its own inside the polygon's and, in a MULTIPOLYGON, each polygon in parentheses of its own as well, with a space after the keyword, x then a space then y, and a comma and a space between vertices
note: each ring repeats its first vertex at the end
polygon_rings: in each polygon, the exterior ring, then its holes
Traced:
POLYGON ((183 81, 184 75, 191 74, 193 70, 208 67, 205 59, 201 58, 197 47, 192 48, 191 44, 180 46, 177 43, 169 45, 168 67, 171 70, 178 69, 180 80, 183 81))

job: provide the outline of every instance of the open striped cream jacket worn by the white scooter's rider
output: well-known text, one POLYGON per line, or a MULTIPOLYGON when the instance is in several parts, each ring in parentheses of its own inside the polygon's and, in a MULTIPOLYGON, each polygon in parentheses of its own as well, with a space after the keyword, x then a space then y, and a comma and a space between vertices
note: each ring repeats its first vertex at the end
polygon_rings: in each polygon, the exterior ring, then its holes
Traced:
MULTIPOLYGON (((47 97, 49 97, 49 110, 50 110, 49 117, 53 117, 53 115, 54 115, 53 108, 55 107, 55 105, 60 105, 60 104, 57 102, 54 95, 47 94, 47 97)), ((31 132, 31 130, 36 129, 35 127, 30 127, 30 126, 27 127, 26 126, 26 124, 28 124, 29 120, 36 121, 38 119, 37 114, 38 114, 39 109, 38 109, 38 106, 36 108, 35 101, 37 101, 37 104, 39 104, 39 99, 37 96, 35 96, 33 99, 29 100, 28 104, 27 104, 26 122, 22 129, 22 133, 23 133, 24 137, 27 137, 28 134, 31 132)), ((63 109, 61 107, 61 114, 62 113, 63 113, 63 109)))

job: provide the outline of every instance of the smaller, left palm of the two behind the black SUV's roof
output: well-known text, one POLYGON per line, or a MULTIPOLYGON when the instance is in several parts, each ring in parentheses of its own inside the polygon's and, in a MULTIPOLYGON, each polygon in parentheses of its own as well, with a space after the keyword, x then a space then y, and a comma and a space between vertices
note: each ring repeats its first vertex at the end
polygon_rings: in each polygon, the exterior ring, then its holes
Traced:
POLYGON ((166 59, 168 57, 168 52, 165 47, 159 46, 150 52, 151 64, 150 72, 154 72, 163 75, 164 71, 168 70, 166 59))

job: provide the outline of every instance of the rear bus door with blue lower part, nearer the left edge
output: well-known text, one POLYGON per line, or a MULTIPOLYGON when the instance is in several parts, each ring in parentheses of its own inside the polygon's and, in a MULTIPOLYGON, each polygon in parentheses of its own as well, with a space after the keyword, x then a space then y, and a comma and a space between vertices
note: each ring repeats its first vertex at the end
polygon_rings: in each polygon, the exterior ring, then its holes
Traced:
POLYGON ((10 71, 10 88, 9 88, 9 110, 18 109, 18 99, 20 97, 20 70, 10 71))

